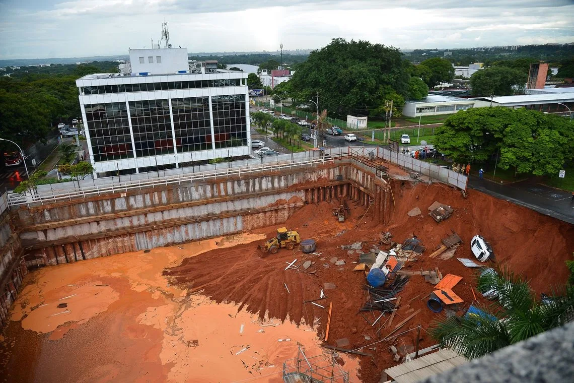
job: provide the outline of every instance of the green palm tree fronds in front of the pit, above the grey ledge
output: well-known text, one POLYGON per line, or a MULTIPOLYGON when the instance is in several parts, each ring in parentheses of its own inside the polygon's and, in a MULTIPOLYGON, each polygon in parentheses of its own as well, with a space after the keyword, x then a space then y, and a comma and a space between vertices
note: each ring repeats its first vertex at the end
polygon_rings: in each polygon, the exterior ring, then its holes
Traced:
POLYGON ((451 316, 434 322, 430 330, 441 347, 455 349, 468 359, 521 342, 574 319, 574 286, 569 283, 563 295, 553 293, 537 300, 528 282, 505 268, 499 273, 483 273, 478 278, 478 289, 498 292, 498 301, 482 308, 490 315, 451 316))

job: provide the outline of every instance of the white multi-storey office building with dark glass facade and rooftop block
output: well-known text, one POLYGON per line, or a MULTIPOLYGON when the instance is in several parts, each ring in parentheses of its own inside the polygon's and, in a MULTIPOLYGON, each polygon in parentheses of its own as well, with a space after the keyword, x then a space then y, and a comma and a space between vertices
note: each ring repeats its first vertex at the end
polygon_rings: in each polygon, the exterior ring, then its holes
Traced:
POLYGON ((190 71, 186 48, 156 47, 130 49, 130 73, 76 80, 95 177, 251 152, 247 73, 190 71))

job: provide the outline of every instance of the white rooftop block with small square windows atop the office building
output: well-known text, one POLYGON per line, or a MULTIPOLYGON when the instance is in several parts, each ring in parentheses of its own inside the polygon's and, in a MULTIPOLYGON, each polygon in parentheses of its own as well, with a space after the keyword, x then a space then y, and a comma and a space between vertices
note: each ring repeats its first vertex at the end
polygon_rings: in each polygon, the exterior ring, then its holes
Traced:
POLYGON ((132 73, 171 74, 189 70, 187 48, 130 49, 130 63, 132 73))

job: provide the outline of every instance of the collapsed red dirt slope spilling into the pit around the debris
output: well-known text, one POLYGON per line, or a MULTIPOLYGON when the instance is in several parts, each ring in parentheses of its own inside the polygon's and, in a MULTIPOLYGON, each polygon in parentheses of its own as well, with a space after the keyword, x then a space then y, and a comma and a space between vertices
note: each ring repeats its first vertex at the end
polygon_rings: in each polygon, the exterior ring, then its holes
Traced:
MULTIPOLYGON (((332 301, 328 343, 334 345, 336 339, 348 338, 350 345, 346 348, 364 346, 364 352, 375 353, 374 359, 360 357, 360 372, 365 382, 377 382, 382 370, 394 364, 387 351, 391 343, 378 343, 376 349, 371 345, 379 339, 375 334, 379 323, 371 326, 375 316, 370 312, 364 313, 370 323, 359 314, 367 298, 363 289, 364 274, 352 271, 355 266, 352 262, 358 260, 358 254, 348 254, 348 250, 342 250, 340 246, 362 241, 363 251, 367 252, 372 245, 378 244, 379 231, 390 231, 396 241, 416 234, 428 250, 417 261, 406 264, 404 269, 432 270, 438 267, 443 276, 447 273, 462 276, 463 280, 453 291, 464 300, 464 310, 474 300, 471 286, 475 287, 476 280, 474 270, 464 267, 456 257, 472 257, 469 242, 476 234, 483 235, 491 242, 499 265, 506 264, 515 272, 523 273, 532 280, 531 285, 537 292, 549 292, 551 287, 564 283, 568 277, 564 261, 569 259, 574 249, 574 226, 568 223, 476 191, 469 191, 468 198, 463 199, 460 192, 442 184, 413 186, 409 182, 394 181, 393 192, 396 205, 387 226, 371 223, 368 213, 360 219, 364 207, 352 203, 352 218, 344 223, 336 222, 331 215, 331 209, 336 207, 334 202, 301 208, 286 226, 299 231, 301 238, 315 238, 317 252, 321 253, 319 256, 282 249, 275 255, 260 258, 254 243, 251 243, 187 258, 181 265, 166 269, 164 274, 181 287, 202 291, 216 301, 241 303, 238 310, 246 306, 247 310, 258 313, 261 318, 289 318, 297 323, 313 323, 318 319, 321 337, 325 333, 328 305, 332 301), (440 224, 428 216, 427 207, 435 200, 455 208, 451 218, 440 224), (406 213, 415 206, 420 207, 422 215, 409 217, 406 213), (464 241, 455 257, 449 260, 428 258, 432 249, 439 246, 440 240, 451 233, 451 229, 464 241), (346 261, 346 265, 333 265, 329 261, 332 257, 346 261), (285 270, 287 264, 295 259, 299 269, 285 270), (307 270, 302 269, 305 260, 314 262, 307 270), (325 265, 328 267, 325 268, 325 265), (312 274, 315 270, 316 273, 312 274), (303 303, 304 300, 318 298, 324 283, 329 282, 334 283, 336 288, 325 290, 328 299, 317 301, 324 309, 303 303)), ((268 227, 258 232, 266 233, 269 238, 275 230, 275 227, 268 227)), ((426 308, 424 297, 431 291, 433 285, 426 283, 421 276, 410 277, 400 293, 402 301, 393 325, 381 330, 381 338, 409 316, 411 309, 421 309, 421 312, 401 331, 413 330, 417 323, 426 330, 433 319, 441 318, 426 308)), ((477 297, 482 301, 482 297, 477 297)), ((383 317, 381 323, 386 318, 383 317)), ((398 338, 395 342, 397 347, 414 345, 415 332, 407 332, 398 338)), ((435 343, 426 331, 422 331, 421 338, 421 348, 435 343)))

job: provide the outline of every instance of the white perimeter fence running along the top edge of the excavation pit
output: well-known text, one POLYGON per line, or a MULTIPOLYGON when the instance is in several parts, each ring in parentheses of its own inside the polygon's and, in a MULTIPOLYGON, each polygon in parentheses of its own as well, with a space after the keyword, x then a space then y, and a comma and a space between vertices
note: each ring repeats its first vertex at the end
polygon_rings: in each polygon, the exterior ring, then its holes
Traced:
POLYGON ((18 206, 30 203, 44 204, 44 202, 57 202, 58 200, 72 200, 94 195, 127 192, 131 189, 142 189, 156 185, 180 184, 246 174, 251 175, 258 172, 307 167, 309 165, 331 162, 334 158, 347 156, 384 158, 390 163, 412 169, 413 171, 443 181, 449 185, 466 189, 467 177, 459 175, 449 169, 415 160, 408 156, 402 156, 401 154, 390 152, 389 149, 378 146, 344 146, 342 148, 325 149, 324 154, 319 150, 308 150, 307 152, 300 153, 278 154, 273 157, 250 158, 248 160, 196 165, 165 171, 38 185, 36 192, 33 193, 18 194, 8 192, 7 196, 5 195, 0 201, 0 210, 5 210, 6 206, 18 206))

